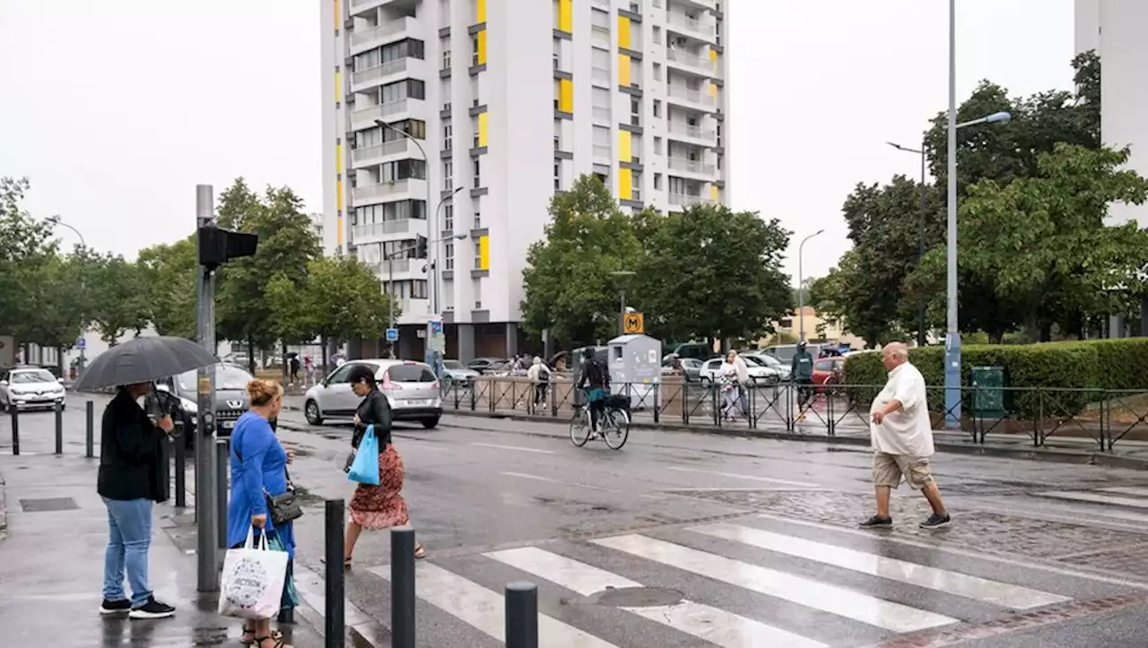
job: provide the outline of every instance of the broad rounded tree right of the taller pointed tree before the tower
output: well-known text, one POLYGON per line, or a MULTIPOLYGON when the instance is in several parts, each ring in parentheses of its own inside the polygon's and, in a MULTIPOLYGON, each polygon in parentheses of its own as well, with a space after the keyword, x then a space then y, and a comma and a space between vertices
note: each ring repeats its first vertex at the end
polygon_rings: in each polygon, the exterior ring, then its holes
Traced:
POLYGON ((758 338, 792 309, 782 259, 790 233, 777 219, 696 205, 636 219, 642 256, 635 303, 652 333, 673 339, 758 338))

